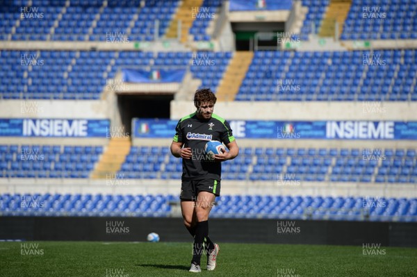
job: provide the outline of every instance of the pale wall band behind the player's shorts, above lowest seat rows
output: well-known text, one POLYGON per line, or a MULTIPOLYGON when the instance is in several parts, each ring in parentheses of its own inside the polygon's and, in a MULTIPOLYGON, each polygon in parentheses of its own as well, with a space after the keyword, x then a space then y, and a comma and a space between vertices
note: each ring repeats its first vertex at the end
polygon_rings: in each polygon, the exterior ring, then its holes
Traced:
MULTIPOLYGON (((172 194, 179 196, 181 180, 127 179, 115 185, 113 180, 0 178, 0 194, 172 194)), ((270 196, 352 196, 417 198, 417 184, 302 182, 286 185, 279 181, 222 181, 222 195, 270 196)))

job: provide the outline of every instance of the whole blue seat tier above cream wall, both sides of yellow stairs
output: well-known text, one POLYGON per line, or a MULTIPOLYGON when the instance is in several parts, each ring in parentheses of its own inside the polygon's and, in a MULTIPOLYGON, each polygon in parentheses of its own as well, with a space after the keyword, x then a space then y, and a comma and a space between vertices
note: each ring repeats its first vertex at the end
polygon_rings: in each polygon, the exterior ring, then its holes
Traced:
MULTIPOLYGON (((152 52, 131 51, 1 51, 1 72, 9 78, 2 79, 0 94, 3 99, 19 99, 23 94, 26 99, 99 99, 106 80, 120 69, 151 65, 189 67, 195 78, 202 79, 200 87, 218 87, 232 55, 203 51, 160 52, 156 57, 152 52), (51 58, 54 65, 36 64, 51 58)), ((236 100, 416 101, 416 56, 416 50, 256 51, 236 100)))

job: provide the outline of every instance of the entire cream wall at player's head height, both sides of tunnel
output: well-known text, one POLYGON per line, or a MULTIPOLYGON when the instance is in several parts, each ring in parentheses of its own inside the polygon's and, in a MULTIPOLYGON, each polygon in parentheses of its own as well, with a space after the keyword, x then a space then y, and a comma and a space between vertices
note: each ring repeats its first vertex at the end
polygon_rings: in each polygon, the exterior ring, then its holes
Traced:
MULTIPOLYGON (((118 114, 115 99, 106 100, 7 100, 0 101, 0 117, 6 118, 88 118, 112 119, 118 114), (33 102, 28 108, 26 102, 33 102), (25 106, 26 105, 26 106, 25 106), (22 109, 23 107, 23 109, 22 109), (33 112, 31 112, 33 110, 33 112)), ((247 120, 413 120, 416 102, 366 101, 232 101, 219 102, 215 113, 225 119, 247 120), (375 112, 372 105, 379 105, 375 112), (368 106, 367 106, 368 105, 368 106), (376 112, 378 111, 379 112, 376 112)), ((192 101, 172 101, 171 119, 195 112, 192 101)))

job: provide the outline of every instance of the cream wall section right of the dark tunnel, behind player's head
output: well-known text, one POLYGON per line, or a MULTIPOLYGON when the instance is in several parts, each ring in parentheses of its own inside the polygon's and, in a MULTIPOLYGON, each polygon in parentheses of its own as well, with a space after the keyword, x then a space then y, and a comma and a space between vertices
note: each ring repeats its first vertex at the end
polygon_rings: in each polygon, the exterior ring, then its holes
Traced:
MULTIPOLYGON (((379 121, 395 119, 407 121, 417 119, 416 110, 416 102, 232 101, 216 103, 214 112, 228 120, 366 119, 379 121)), ((191 112, 195 112, 193 101, 171 102, 171 119, 180 119, 191 112)))

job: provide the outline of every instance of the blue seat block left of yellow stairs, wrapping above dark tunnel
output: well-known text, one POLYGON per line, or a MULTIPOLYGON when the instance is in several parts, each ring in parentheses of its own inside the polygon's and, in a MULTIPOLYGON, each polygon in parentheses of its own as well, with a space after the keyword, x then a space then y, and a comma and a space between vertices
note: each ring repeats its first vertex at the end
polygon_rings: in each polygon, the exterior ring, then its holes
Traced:
POLYGON ((189 67, 195 78, 202 78, 202 87, 217 87, 230 58, 230 52, 202 51, 160 52, 156 57, 132 51, 1 51, 1 74, 8 78, 1 80, 0 97, 99 99, 106 80, 115 78, 120 69, 147 66, 189 67), (53 65, 46 62, 51 59, 53 65))

